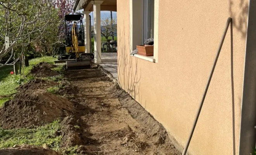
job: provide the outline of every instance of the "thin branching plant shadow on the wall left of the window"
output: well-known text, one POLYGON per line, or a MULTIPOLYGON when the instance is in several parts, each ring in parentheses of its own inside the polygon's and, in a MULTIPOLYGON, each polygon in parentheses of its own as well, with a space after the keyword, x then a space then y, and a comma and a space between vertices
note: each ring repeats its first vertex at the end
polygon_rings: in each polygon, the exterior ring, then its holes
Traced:
MULTIPOLYGON (((123 25, 125 25, 124 21, 123 25)), ((135 100, 141 101, 142 98, 139 96, 141 69, 138 71, 138 58, 130 56, 130 34, 126 31, 125 27, 118 27, 118 82, 121 88, 135 100)))

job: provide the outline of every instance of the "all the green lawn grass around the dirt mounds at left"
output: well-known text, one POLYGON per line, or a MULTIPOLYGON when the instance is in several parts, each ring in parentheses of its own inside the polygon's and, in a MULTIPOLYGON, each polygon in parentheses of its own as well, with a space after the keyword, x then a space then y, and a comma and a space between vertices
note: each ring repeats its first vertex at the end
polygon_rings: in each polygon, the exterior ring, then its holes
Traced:
MULTIPOLYGON (((11 75, 10 72, 13 71, 13 66, 5 66, 0 68, 0 95, 9 95, 11 93, 16 93, 16 88, 20 84, 24 84, 29 79, 33 79, 33 76, 28 76, 32 67, 39 62, 48 62, 54 64, 56 58, 53 57, 41 57, 29 60, 29 66, 24 68, 25 75, 11 75), (19 83, 17 79, 22 79, 22 82, 19 83)), ((61 71, 62 65, 53 68, 54 71, 61 71)), ((56 77, 54 77, 56 78, 56 77)), ((50 79, 52 80, 52 79, 50 79)), ((47 91, 55 93, 59 89, 58 87, 49 88, 47 91)), ((0 107, 3 103, 9 98, 0 98, 0 107)), ((76 126, 75 126, 76 127, 76 126)), ((48 146, 49 148, 62 152, 63 155, 76 155, 76 149, 78 146, 72 146, 69 148, 62 147, 62 135, 56 134, 62 129, 59 120, 53 121, 50 124, 44 126, 39 126, 36 128, 21 128, 21 129, 3 129, 0 127, 0 149, 10 148, 14 145, 36 145, 36 146, 48 146), (64 153, 64 150, 67 150, 67 153, 64 153)))

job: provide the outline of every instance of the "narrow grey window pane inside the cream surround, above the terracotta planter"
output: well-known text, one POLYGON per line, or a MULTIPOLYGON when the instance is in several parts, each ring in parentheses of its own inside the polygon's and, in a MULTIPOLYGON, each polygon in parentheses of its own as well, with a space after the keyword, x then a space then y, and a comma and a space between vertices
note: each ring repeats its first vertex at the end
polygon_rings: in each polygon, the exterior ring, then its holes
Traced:
POLYGON ((142 0, 142 43, 154 38, 154 0, 142 0))

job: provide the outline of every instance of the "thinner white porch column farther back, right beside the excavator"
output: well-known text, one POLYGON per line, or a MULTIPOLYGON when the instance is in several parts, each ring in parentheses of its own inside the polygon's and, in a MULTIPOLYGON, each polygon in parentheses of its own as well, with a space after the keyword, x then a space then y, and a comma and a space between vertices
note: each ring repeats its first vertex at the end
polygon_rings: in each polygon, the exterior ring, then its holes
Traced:
POLYGON ((90 53, 90 17, 89 11, 83 11, 85 14, 85 53, 90 53))

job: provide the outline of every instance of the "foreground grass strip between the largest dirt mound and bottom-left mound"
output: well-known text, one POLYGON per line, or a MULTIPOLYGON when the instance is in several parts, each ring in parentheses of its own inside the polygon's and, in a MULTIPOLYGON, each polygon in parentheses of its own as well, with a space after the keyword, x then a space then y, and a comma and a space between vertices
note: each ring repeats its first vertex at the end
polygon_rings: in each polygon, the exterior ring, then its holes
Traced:
POLYGON ((36 129, 11 129, 0 128, 0 149, 9 148, 14 145, 47 145, 53 150, 61 149, 62 136, 56 136, 55 132, 61 129, 59 121, 54 121, 36 129))

